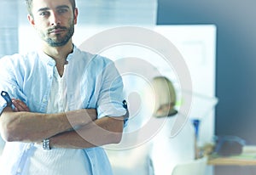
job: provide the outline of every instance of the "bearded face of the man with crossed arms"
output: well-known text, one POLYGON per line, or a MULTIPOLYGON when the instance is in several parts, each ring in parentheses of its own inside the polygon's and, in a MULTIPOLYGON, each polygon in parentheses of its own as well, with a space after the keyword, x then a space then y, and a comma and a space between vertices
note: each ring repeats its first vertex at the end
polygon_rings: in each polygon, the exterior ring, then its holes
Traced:
POLYGON ((32 14, 28 19, 49 46, 64 46, 73 37, 78 11, 69 0, 33 0, 32 14))

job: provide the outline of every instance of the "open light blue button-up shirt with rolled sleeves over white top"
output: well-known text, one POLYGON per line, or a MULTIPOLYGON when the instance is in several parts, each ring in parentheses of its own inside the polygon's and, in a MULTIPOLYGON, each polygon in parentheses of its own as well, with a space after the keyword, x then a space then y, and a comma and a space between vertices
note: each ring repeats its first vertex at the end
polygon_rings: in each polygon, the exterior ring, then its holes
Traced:
MULTIPOLYGON (((67 57, 68 110, 96 108, 98 118, 124 116, 123 82, 113 61, 74 47, 67 57)), ((15 54, 0 59, 0 91, 26 103, 32 112, 45 113, 53 79, 54 59, 41 51, 15 54)), ((0 113, 6 102, 0 98, 0 113)), ((22 174, 34 144, 6 143, 0 161, 0 174, 22 174)), ((84 149, 92 175, 112 174, 108 156, 101 147, 84 149)))

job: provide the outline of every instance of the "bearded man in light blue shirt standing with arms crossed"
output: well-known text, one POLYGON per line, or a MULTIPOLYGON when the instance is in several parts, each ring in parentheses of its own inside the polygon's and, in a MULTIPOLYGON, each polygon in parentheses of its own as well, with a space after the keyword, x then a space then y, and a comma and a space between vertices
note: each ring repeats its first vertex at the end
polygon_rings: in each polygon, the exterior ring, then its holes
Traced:
POLYGON ((113 62, 73 45, 74 0, 26 0, 42 50, 0 59, 0 174, 112 174, 101 145, 119 143, 126 110, 113 62))

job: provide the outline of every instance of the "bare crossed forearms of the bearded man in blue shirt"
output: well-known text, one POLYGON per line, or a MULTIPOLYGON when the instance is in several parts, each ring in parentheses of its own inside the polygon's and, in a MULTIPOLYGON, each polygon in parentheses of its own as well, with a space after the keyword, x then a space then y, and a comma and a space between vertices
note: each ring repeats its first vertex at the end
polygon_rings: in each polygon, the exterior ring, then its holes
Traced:
POLYGON ((95 109, 33 113, 20 100, 13 102, 15 111, 6 107, 0 117, 1 135, 9 142, 41 143, 49 138, 50 147, 81 149, 117 144, 122 138, 125 116, 96 119, 95 109))

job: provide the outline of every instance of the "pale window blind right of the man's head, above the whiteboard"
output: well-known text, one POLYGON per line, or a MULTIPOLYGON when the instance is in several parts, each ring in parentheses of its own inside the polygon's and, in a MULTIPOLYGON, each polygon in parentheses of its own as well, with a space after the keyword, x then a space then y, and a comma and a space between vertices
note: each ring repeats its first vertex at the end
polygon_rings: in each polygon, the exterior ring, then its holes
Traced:
POLYGON ((77 0, 79 25, 155 25, 157 0, 77 0))

